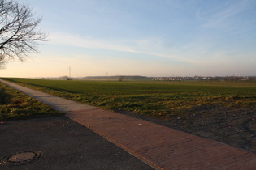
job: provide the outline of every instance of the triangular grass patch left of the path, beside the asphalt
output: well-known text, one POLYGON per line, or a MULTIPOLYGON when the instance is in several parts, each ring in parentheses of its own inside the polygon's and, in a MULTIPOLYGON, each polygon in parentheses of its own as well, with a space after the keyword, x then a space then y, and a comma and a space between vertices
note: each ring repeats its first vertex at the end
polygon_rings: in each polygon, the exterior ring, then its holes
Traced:
POLYGON ((30 96, 0 83, 0 121, 61 115, 30 96))

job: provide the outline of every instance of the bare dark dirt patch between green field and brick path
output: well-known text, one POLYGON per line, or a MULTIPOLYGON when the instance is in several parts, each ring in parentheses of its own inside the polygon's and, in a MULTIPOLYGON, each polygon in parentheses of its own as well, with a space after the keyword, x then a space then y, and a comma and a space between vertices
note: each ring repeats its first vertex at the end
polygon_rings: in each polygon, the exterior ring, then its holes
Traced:
POLYGON ((119 111, 119 113, 223 142, 256 154, 256 108, 206 106, 194 108, 188 112, 189 118, 172 117, 170 120, 159 120, 119 111))

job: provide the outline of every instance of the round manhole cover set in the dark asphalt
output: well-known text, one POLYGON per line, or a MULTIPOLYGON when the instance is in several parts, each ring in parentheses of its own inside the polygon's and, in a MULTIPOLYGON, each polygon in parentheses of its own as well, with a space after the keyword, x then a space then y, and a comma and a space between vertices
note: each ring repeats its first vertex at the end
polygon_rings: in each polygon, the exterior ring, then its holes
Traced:
POLYGON ((15 154, 5 156, 0 164, 2 165, 24 165, 41 159, 44 153, 41 151, 20 151, 15 154))

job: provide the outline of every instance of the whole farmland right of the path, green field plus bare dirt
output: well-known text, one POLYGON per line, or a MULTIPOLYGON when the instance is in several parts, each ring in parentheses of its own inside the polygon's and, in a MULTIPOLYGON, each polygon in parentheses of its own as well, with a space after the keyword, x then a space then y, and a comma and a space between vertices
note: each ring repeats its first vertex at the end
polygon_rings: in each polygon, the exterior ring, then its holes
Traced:
POLYGON ((255 82, 6 80, 256 153, 255 82))

